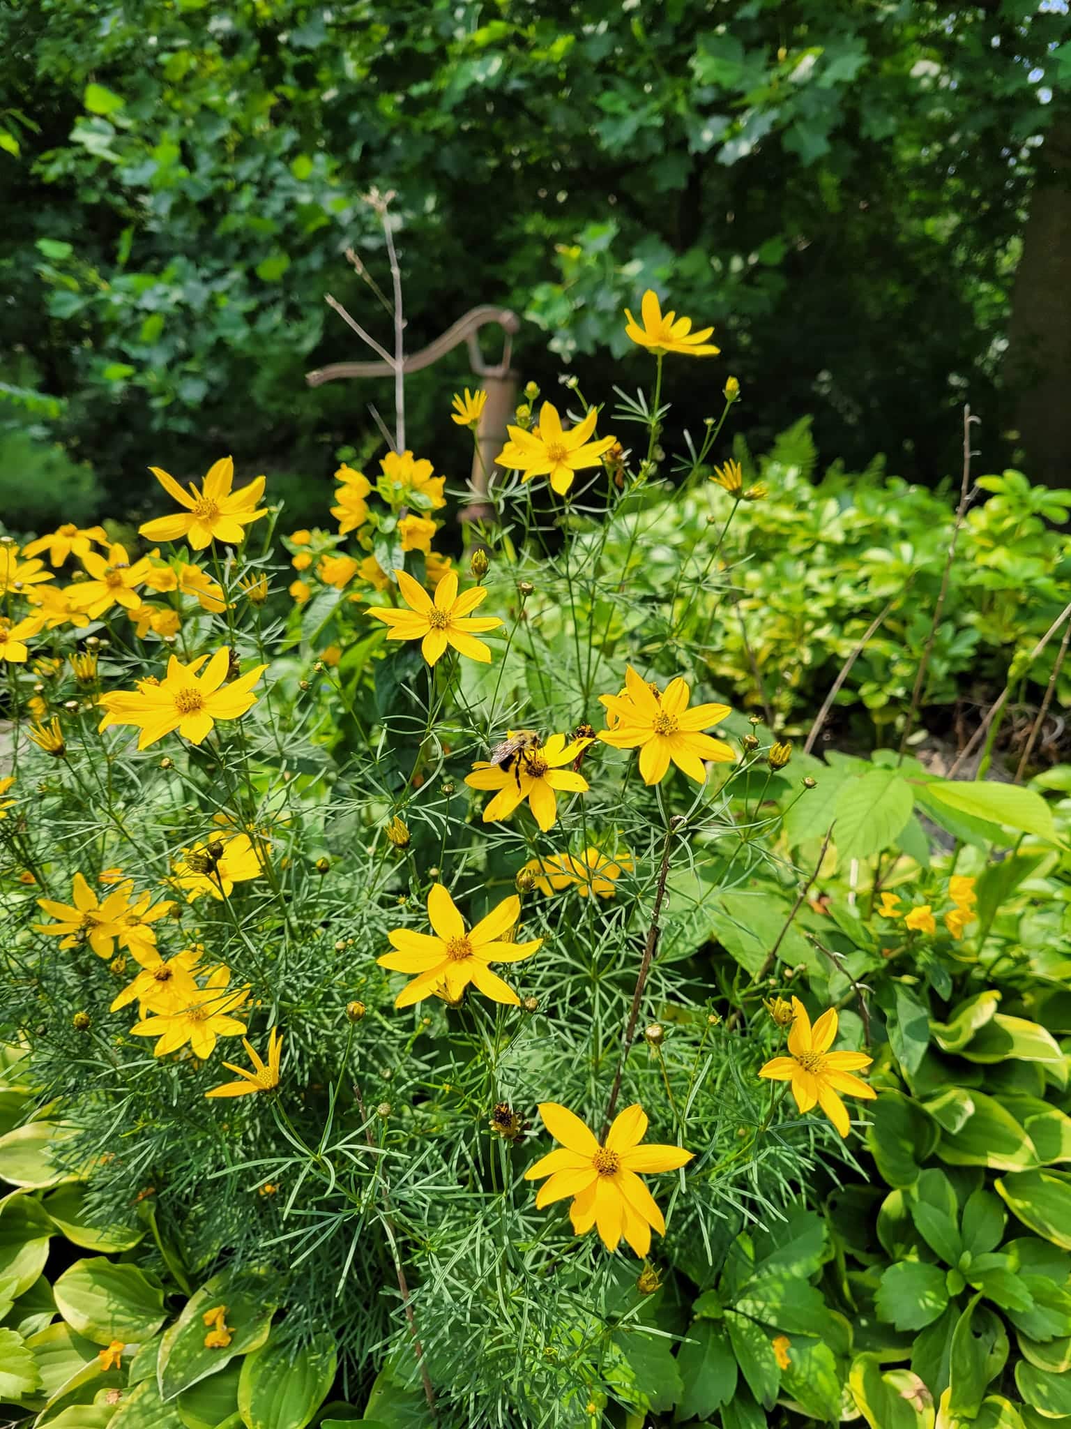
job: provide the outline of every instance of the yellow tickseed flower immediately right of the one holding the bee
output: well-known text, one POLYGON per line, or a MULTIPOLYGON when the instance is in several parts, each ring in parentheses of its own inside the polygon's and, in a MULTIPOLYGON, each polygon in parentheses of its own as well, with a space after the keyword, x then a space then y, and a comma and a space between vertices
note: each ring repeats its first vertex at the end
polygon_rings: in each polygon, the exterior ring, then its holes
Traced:
POLYGON ((735 755, 724 740, 701 733, 718 725, 728 713, 728 704, 697 704, 688 709, 691 690, 680 677, 670 680, 660 693, 641 680, 631 664, 625 670, 624 694, 600 694, 598 702, 610 716, 611 729, 598 737, 614 749, 640 747, 640 775, 645 785, 657 785, 665 777, 670 760, 697 783, 704 783, 707 770, 703 760, 730 765, 735 755))

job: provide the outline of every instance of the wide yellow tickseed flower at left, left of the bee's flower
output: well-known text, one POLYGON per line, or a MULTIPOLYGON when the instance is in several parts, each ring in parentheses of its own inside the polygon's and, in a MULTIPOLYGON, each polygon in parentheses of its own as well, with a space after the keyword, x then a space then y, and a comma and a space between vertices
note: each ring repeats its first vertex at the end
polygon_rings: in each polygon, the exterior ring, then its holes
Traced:
POLYGON ((167 662, 167 674, 159 684, 139 680, 137 692, 114 690, 101 694, 104 712, 100 729, 110 725, 134 725, 141 733, 139 749, 147 749, 164 735, 177 730, 191 745, 200 745, 213 730, 216 720, 238 719, 257 703, 253 686, 267 669, 256 664, 247 674, 224 684, 230 667, 230 650, 223 646, 208 660, 197 656, 183 664, 177 656, 167 662), (198 673, 204 666, 204 672, 198 673))

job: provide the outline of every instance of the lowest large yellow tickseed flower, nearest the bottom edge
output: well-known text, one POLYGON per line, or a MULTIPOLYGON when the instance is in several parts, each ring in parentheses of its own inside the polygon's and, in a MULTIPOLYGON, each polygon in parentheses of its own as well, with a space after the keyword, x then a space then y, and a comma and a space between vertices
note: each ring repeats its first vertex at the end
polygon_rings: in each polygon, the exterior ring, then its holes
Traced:
POLYGON ((540 1157, 524 1173, 526 1180, 548 1177, 536 1196, 537 1209, 571 1196, 568 1213, 578 1236, 598 1226, 607 1250, 615 1250, 624 1236, 638 1256, 645 1256, 651 1249, 651 1228, 665 1235, 665 1222, 637 1173, 677 1170, 691 1160, 693 1152, 681 1146, 641 1146, 647 1116, 638 1103, 618 1112, 604 1146, 578 1116, 557 1102, 540 1103, 540 1115, 563 1150, 540 1157))

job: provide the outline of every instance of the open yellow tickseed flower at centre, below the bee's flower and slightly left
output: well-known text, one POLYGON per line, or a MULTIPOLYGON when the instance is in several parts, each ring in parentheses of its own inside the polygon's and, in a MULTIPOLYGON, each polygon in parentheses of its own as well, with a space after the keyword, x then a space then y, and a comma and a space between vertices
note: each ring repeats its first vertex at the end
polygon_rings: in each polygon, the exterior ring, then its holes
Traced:
POLYGON ((436 883, 427 896, 427 916, 434 937, 414 933, 408 927, 397 927, 387 933, 391 953, 384 953, 377 962, 396 973, 416 973, 394 999, 396 1007, 411 1007, 424 997, 438 993, 447 1002, 458 1002, 466 987, 473 983, 491 1002, 518 1006, 520 997, 493 973, 490 963, 517 963, 531 957, 543 942, 507 942, 517 919, 521 916, 521 900, 507 897, 480 919, 476 927, 466 932, 464 919, 454 907, 441 883, 436 883))

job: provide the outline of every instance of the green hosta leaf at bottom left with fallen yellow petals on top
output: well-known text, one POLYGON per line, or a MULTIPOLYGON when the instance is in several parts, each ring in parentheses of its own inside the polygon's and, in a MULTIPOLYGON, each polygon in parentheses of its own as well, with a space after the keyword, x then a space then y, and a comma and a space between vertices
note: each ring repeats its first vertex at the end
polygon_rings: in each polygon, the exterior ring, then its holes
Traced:
POLYGON ((164 1400, 174 1399, 207 1375, 218 1373, 236 1355, 260 1349, 268 1338, 276 1302, 268 1276, 257 1270, 223 1270, 206 1280, 164 1332, 157 1368, 164 1400), (201 1316, 217 1305, 227 1306, 231 1340, 210 1349, 204 1343, 201 1316))

